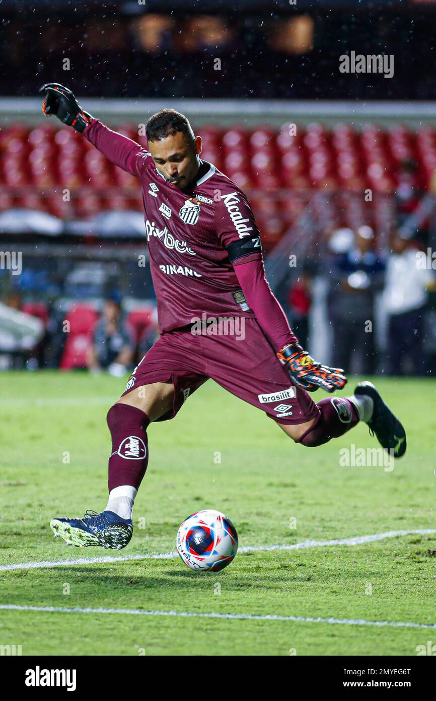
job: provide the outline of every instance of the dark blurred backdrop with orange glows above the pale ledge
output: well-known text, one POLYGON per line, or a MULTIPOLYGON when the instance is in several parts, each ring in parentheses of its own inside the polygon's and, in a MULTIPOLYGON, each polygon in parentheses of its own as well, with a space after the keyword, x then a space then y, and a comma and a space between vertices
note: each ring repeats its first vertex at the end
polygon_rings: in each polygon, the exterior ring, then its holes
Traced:
POLYGON ((435 99, 433 2, 232 5, 3 2, 0 95, 57 80, 92 97, 435 99), (340 74, 351 50, 393 54, 393 78, 340 74))

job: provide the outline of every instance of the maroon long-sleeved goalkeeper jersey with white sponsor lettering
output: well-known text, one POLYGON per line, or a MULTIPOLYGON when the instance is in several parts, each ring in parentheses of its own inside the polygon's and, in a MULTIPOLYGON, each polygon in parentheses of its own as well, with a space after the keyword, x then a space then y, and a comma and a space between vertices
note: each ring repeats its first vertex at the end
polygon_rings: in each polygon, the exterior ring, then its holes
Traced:
MULTIPOLYGON (((295 339, 269 290, 262 254, 246 255, 234 266, 230 263, 225 246, 259 234, 246 196, 230 178, 209 164, 205 175, 182 190, 167 182, 146 149, 97 119, 83 133, 110 161, 141 182, 161 333, 191 324, 203 313, 258 320, 263 314, 265 325, 275 321, 271 342, 276 348, 295 339), (251 261, 256 261, 253 271, 246 266, 251 261), (244 265, 236 265, 239 262, 244 265), (252 302, 241 289, 235 272, 239 268, 252 302), (262 287, 265 290, 260 294, 256 290, 262 287)), ((268 329, 263 330, 270 335, 268 329)))

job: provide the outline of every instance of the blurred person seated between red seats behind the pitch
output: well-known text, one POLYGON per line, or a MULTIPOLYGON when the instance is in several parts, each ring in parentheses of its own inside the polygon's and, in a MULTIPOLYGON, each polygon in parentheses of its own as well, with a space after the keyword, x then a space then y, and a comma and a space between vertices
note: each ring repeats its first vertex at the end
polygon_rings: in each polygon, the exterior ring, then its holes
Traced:
POLYGON ((106 299, 87 355, 87 367, 90 372, 107 369, 120 377, 132 366, 133 354, 134 341, 122 319, 120 304, 113 298, 106 299))

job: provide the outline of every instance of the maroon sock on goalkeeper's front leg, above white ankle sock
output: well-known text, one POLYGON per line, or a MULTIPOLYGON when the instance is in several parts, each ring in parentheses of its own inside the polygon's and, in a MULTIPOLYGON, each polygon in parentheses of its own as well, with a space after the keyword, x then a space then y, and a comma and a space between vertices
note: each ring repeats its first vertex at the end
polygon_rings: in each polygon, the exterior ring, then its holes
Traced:
POLYGON ((113 404, 107 422, 112 436, 109 491, 123 484, 138 489, 148 465, 146 430, 150 420, 141 409, 129 404, 113 404))

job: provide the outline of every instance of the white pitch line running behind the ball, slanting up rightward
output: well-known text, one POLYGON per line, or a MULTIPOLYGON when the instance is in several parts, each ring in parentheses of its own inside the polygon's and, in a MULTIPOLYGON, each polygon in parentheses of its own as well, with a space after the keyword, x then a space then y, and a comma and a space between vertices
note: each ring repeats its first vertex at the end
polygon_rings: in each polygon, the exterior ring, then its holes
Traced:
MULTIPOLYGON (((376 540, 384 538, 396 538, 397 536, 412 536, 414 534, 426 536, 429 533, 436 533, 436 529, 417 529, 415 531, 388 531, 387 533, 373 533, 370 536, 354 536, 353 538, 341 538, 340 540, 303 540, 302 543, 293 545, 253 545, 240 547, 238 552, 265 552, 269 550, 300 550, 303 547, 327 547, 328 545, 362 545, 363 543, 374 543, 376 540)), ((19 564, 0 565, 0 571, 20 570, 20 569, 41 569, 44 567, 64 567, 67 565, 86 565, 104 562, 128 562, 129 560, 166 560, 178 557, 177 553, 157 552, 143 555, 119 555, 113 557, 78 557, 73 560, 43 560, 42 562, 20 562, 19 564)))

